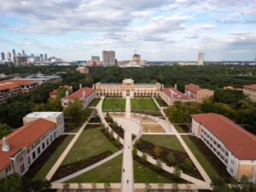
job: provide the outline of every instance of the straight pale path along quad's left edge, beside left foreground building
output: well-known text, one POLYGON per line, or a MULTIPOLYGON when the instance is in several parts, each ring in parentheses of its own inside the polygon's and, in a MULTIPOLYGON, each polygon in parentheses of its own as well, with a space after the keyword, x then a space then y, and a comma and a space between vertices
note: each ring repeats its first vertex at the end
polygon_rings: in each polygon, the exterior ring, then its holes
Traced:
POLYGON ((73 144, 78 140, 79 136, 83 132, 84 127, 87 125, 89 120, 90 120, 90 118, 84 122, 84 124, 81 126, 79 131, 76 133, 75 137, 73 137, 73 140, 67 145, 67 148, 63 151, 63 153, 61 154, 59 159, 55 162, 55 165, 51 168, 51 170, 48 172, 48 174, 45 177, 47 180, 50 180, 51 177, 53 177, 53 175, 55 174, 55 172, 59 168, 59 166, 61 166, 62 161, 65 159, 65 157, 67 156, 68 152, 73 147, 73 144))

